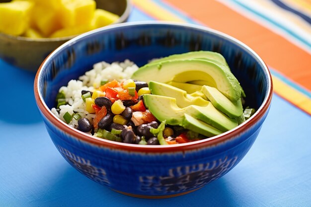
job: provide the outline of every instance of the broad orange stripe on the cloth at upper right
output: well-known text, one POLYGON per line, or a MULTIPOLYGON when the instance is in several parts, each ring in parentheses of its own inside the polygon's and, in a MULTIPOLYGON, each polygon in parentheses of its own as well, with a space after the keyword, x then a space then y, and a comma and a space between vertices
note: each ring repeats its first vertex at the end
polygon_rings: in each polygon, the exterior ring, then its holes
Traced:
POLYGON ((166 0, 209 27, 251 47, 267 65, 311 91, 311 55, 216 0, 166 0))

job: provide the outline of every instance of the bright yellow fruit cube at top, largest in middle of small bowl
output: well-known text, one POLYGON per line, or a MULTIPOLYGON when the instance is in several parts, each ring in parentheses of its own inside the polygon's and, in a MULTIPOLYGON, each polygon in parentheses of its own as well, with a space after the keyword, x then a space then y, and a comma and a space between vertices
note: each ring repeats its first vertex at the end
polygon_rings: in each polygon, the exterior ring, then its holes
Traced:
POLYGON ((90 24, 96 2, 94 0, 62 0, 61 15, 64 27, 90 24))

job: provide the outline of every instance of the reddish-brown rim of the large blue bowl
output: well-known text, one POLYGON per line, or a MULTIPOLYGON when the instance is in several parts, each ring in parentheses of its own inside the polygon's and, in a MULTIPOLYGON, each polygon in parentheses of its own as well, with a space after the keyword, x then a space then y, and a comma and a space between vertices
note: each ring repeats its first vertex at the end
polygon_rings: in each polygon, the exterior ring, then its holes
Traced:
POLYGON ((126 22, 126 23, 119 23, 114 24, 110 26, 106 26, 104 28, 98 28, 86 33, 83 33, 79 35, 78 37, 73 38, 72 40, 64 43, 62 46, 58 47, 55 51, 53 51, 41 64, 39 67, 35 80, 34 80, 34 93, 35 93, 35 100, 37 103, 37 106, 39 110, 41 111, 41 114, 45 116, 45 118, 53 124, 55 127, 59 128, 60 130, 64 131, 68 135, 70 135, 73 138, 77 138, 80 141, 87 142, 89 144, 94 144, 100 147, 108 147, 112 149, 118 149, 118 150, 125 150, 125 151, 131 151, 131 152, 149 152, 149 153, 156 153, 156 152, 175 152, 175 151, 187 151, 187 150, 195 150, 202 147, 211 147, 217 144, 220 144, 222 142, 228 141, 231 138, 236 138, 238 135, 242 134, 243 131, 246 131, 248 128, 250 128, 252 125, 254 125, 256 122, 258 122, 261 118, 264 117, 266 112, 268 111, 271 100, 272 100, 272 94, 273 94, 273 83, 272 83, 272 77, 271 73, 267 67, 267 65, 264 63, 264 61, 247 45, 240 42, 239 40, 231 37, 230 35, 227 35, 223 32, 205 27, 200 26, 196 24, 190 24, 190 23, 177 23, 177 22, 170 22, 170 21, 136 21, 136 22, 126 22), (39 94, 39 80, 42 73, 42 70, 44 69, 46 63, 49 59, 51 59, 55 54, 57 54, 59 51, 66 47, 70 47, 70 45, 75 44, 80 39, 83 39, 84 37, 87 37, 94 33, 100 33, 101 31, 110 30, 114 28, 122 28, 122 27, 131 27, 135 25, 174 25, 174 26, 181 26, 181 27, 191 27, 194 29, 199 29, 203 31, 208 31, 210 33, 214 33, 216 35, 219 35, 223 38, 227 38, 228 40, 233 41, 234 43, 240 45, 241 47, 248 50, 263 66, 264 71, 266 72, 268 76, 268 92, 267 96, 264 98, 261 106, 258 108, 258 110, 255 112, 255 114, 250 117, 248 120, 243 122, 242 124, 238 125, 237 127, 233 128, 230 131, 227 131, 225 133, 222 133, 218 136, 214 136, 212 138, 206 138, 202 140, 197 140, 193 142, 187 142, 187 143, 181 143, 181 144, 168 144, 168 145, 139 145, 139 144, 128 144, 123 142, 116 142, 116 141, 110 141, 103 138, 96 138, 91 135, 87 135, 83 132, 78 131, 75 128, 70 127, 68 124, 57 118, 51 110, 47 107, 45 102, 43 101, 43 97, 41 94, 39 94))

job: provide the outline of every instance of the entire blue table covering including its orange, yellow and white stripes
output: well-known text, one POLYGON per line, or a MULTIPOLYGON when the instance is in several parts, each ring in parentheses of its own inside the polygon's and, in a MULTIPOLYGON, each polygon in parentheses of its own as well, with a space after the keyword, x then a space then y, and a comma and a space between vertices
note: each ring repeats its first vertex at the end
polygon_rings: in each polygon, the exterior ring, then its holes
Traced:
POLYGON ((129 21, 205 25, 261 56, 273 75, 274 97, 254 145, 227 175, 191 194, 145 200, 115 193, 60 156, 35 105, 34 74, 0 60, 0 207, 310 207, 311 1, 132 2, 129 21))

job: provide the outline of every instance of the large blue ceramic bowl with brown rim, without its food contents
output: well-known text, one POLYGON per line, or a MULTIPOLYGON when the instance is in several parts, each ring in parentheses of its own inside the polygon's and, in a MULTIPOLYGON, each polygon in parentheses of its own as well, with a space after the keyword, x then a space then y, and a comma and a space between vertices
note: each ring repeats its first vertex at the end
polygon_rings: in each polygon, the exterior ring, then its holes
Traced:
POLYGON ((244 157, 268 114, 272 81, 258 55, 226 34, 190 24, 135 22, 97 29, 59 47, 38 70, 34 90, 51 139, 79 172, 126 195, 165 198, 205 186, 244 157), (143 66, 153 58, 198 50, 221 53, 245 89, 246 102, 257 109, 222 135, 165 146, 119 143, 88 136, 50 111, 58 89, 97 62, 130 59, 143 66))

